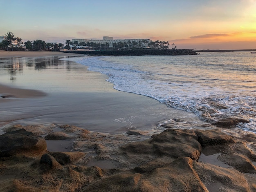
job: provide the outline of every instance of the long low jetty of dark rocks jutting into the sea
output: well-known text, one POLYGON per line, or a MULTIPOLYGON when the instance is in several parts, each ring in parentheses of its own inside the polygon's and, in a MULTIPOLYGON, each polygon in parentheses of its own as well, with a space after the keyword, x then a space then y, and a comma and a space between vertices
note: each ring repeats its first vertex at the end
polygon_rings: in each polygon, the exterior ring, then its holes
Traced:
POLYGON ((147 49, 147 50, 101 50, 101 51, 61 51, 64 53, 85 54, 91 56, 143 56, 143 55, 197 55, 191 49, 147 49))

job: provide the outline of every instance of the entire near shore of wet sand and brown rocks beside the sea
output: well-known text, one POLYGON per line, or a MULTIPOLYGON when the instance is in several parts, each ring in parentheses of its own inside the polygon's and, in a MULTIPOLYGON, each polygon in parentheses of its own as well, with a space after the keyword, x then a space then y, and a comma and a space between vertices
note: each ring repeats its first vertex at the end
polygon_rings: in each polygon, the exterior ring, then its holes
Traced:
POLYGON ((117 91, 65 60, 84 56, 0 51, 2 191, 256 189, 255 134, 117 91))

